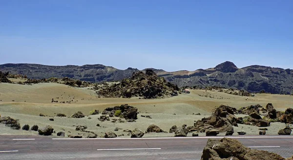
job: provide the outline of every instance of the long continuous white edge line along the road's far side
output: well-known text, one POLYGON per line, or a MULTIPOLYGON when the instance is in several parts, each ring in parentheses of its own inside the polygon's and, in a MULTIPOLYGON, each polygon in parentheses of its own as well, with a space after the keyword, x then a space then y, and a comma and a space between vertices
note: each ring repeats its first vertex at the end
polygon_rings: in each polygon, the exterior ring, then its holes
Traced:
POLYGON ((230 138, 230 139, 274 139, 274 138, 287 138, 287 139, 293 139, 293 136, 274 136, 274 137, 165 137, 165 138, 115 138, 115 139, 103 139, 103 138, 98 138, 98 139, 52 139, 52 140, 163 140, 163 139, 223 139, 223 138, 230 138))

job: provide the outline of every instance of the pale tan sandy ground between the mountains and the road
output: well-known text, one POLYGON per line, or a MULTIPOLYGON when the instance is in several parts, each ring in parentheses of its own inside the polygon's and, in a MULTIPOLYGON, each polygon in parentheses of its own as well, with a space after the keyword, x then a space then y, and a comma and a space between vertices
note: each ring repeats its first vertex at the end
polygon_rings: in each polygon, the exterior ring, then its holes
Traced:
MULTIPOLYGON (((21 126, 37 124, 40 127, 52 125, 56 132, 64 131, 66 135, 84 134, 84 132, 75 131, 73 125, 86 125, 88 131, 93 131, 99 136, 104 136, 105 132, 115 132, 117 135, 124 134, 123 129, 139 128, 146 130, 150 124, 156 124, 164 131, 169 131, 172 125, 181 126, 187 124, 193 125, 194 121, 203 117, 208 117, 211 110, 218 105, 224 104, 231 107, 240 108, 251 104, 261 104, 266 106, 271 102, 273 106, 280 111, 293 107, 293 96, 289 95, 271 95, 256 94, 255 97, 234 96, 227 93, 205 90, 191 90, 190 94, 179 94, 176 97, 158 100, 143 100, 138 98, 97 98, 95 92, 90 88, 75 88, 56 83, 39 83, 33 85, 20 85, 0 83, 0 115, 10 116, 19 119, 21 126), (208 95, 213 98, 205 98, 199 95, 208 95), (59 102, 51 102, 51 100, 59 102), (71 101, 71 103, 60 103, 60 101, 71 101), (89 115, 93 109, 103 111, 106 107, 113 107, 121 104, 129 104, 138 108, 140 114, 136 122, 112 123, 111 121, 101 122, 98 120, 100 115, 86 116, 83 119, 54 117, 54 121, 49 121, 49 117, 40 117, 42 113, 48 116, 55 116, 57 113, 64 113, 69 117, 77 111, 82 111, 84 115, 89 115), (200 113, 201 115, 192 115, 200 113), (173 115, 176 114, 176 115, 173 115), (140 117, 140 115, 150 115, 152 119, 140 117), (88 118, 91 119, 88 119, 88 118), (102 127, 97 127, 99 123, 102 127), (122 130, 114 131, 115 127, 122 130), (68 132, 69 131, 69 132, 68 132)), ((241 116, 241 115, 236 115, 241 116)), ((110 118, 113 119, 113 118, 110 118)), ((279 129, 285 127, 284 123, 271 123, 267 127, 268 135, 275 135, 279 129)), ((0 125, 0 134, 37 134, 35 131, 12 130, 9 127, 0 125)), ((249 135, 258 135, 259 127, 241 125, 235 127, 234 131, 244 130, 249 135)), ((221 133, 223 135, 225 133, 221 133)), ((204 133, 200 133, 204 136, 204 133)), ((86 136, 86 135, 85 135, 86 136)), ((173 137, 174 134, 146 134, 145 137, 173 137)), ((188 134, 191 136, 191 133, 188 134)))

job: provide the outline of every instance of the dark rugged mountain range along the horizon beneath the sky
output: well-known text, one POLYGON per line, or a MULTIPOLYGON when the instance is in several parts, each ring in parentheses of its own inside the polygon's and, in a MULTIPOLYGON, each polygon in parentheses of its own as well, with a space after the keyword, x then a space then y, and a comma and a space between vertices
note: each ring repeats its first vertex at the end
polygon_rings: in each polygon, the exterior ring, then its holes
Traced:
MULTIPOLYGON (((164 77, 178 86, 221 86, 226 88, 243 89, 249 92, 260 92, 264 90, 273 94, 293 93, 293 70, 272 68, 260 65, 251 65, 244 68, 226 61, 214 68, 198 69, 195 71, 166 72, 164 70, 152 69, 158 76, 164 77)), ((146 69, 145 69, 146 70, 146 69)), ((102 64, 93 65, 66 65, 49 66, 41 64, 1 64, 0 71, 12 74, 27 75, 28 78, 42 79, 50 77, 69 77, 72 79, 90 82, 115 81, 131 77, 136 68, 126 70, 102 64)))

